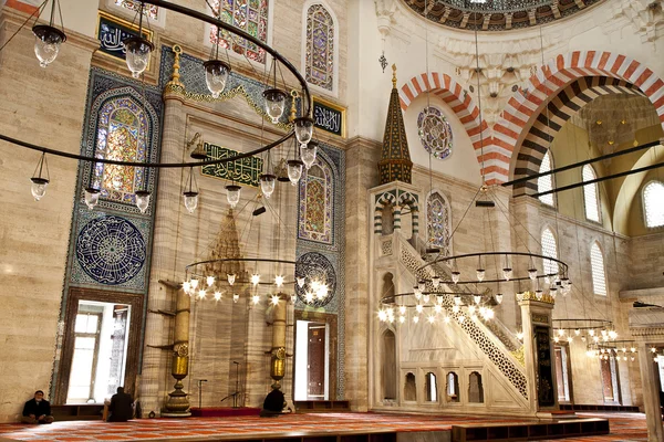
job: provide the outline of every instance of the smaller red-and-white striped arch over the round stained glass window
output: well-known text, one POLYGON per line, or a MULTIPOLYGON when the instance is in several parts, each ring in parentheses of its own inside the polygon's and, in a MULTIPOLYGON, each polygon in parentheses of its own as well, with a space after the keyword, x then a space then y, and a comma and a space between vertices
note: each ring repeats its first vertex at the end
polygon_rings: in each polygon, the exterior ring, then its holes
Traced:
POLYGON ((417 96, 427 92, 433 93, 447 103, 464 125, 466 133, 473 141, 477 161, 480 164, 480 167, 484 166, 480 172, 483 175, 494 172, 494 165, 490 161, 495 156, 490 144, 491 131, 487 122, 480 120, 479 106, 475 104, 470 94, 447 74, 430 72, 427 75, 426 73, 422 73, 402 86, 398 93, 402 110, 406 110, 417 96))

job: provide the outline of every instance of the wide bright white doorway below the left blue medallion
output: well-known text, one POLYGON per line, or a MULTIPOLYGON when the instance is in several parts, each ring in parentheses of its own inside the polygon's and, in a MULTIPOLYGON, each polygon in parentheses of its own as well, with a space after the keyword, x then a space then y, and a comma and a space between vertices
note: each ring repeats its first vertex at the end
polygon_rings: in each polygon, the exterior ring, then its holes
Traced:
POLYGON ((65 403, 102 403, 124 387, 129 311, 126 304, 79 301, 65 403))

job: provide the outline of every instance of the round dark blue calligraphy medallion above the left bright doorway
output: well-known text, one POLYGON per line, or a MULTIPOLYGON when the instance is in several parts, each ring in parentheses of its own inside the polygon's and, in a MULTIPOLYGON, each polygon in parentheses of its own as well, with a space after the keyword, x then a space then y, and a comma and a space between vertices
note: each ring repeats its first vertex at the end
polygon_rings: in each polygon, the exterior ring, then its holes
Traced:
POLYGON ((126 219, 104 215, 81 229, 75 252, 79 265, 95 282, 117 285, 141 272, 146 243, 141 231, 126 219))

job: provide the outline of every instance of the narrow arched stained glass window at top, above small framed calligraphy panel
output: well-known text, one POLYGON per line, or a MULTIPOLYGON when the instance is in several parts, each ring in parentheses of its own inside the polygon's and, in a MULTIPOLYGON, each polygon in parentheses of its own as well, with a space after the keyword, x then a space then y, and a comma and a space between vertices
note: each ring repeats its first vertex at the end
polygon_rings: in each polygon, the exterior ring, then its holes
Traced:
POLYGON ((304 75, 309 83, 334 88, 334 20, 322 4, 307 11, 307 56, 304 75))

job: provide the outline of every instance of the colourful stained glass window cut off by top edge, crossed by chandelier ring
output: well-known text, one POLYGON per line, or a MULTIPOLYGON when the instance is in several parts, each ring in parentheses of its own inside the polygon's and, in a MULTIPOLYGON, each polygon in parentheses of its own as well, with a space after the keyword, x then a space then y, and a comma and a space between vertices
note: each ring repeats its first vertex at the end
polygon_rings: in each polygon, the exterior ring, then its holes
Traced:
MULTIPOLYGON (((215 15, 219 14, 220 9, 221 21, 241 29, 262 42, 268 41, 268 0, 211 0, 210 4, 215 15)), ((215 44, 217 40, 217 27, 211 27, 210 42, 215 44)), ((266 62, 263 49, 225 30, 221 30, 219 45, 243 54, 249 60, 266 62)))

